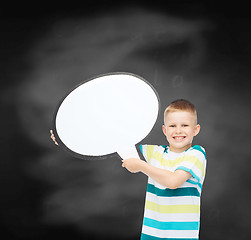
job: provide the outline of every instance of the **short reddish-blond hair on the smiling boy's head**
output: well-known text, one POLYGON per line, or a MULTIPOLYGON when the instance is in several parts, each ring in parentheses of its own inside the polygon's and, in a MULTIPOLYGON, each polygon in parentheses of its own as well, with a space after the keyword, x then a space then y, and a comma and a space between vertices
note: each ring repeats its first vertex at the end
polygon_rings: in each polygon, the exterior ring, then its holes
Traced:
POLYGON ((177 99, 170 103, 170 105, 166 108, 164 112, 164 122, 166 120, 167 113, 176 111, 185 111, 194 113, 197 122, 197 111, 195 106, 191 102, 185 99, 177 99))

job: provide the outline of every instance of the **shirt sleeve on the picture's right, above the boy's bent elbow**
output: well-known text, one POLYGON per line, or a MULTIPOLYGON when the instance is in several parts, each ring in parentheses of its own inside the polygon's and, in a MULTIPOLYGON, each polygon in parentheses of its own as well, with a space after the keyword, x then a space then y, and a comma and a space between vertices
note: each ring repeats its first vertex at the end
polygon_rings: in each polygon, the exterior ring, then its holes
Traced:
POLYGON ((191 173, 190 183, 202 183, 206 173, 206 152, 201 146, 195 145, 183 156, 182 161, 176 170, 184 170, 191 173))

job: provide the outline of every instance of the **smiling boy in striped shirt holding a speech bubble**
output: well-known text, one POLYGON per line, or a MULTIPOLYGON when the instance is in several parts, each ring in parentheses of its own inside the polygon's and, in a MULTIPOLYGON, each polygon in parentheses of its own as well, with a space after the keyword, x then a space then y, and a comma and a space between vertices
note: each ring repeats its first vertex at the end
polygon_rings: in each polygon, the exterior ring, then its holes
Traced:
POLYGON ((194 105, 172 102, 164 112, 169 146, 140 145, 146 160, 125 159, 122 167, 148 176, 141 240, 199 239, 204 148, 192 141, 200 131, 194 105))

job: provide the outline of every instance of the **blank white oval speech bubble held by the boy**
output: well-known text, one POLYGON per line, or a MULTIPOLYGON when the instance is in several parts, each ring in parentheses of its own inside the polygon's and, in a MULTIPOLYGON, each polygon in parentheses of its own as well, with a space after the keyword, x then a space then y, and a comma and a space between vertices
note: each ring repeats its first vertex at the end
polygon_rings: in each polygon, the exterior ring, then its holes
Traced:
POLYGON ((96 76, 74 88, 54 117, 59 145, 75 156, 117 152, 122 159, 139 157, 135 145, 152 130, 159 98, 143 78, 131 73, 96 76))

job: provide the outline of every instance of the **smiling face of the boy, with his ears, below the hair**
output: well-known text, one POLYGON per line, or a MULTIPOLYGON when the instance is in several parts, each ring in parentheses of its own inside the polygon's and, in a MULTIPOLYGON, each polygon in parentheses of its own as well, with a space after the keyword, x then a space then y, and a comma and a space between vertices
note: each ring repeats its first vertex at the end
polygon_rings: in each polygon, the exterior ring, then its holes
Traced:
POLYGON ((184 152, 192 146, 194 136, 200 131, 195 114, 191 112, 175 111, 166 115, 165 125, 162 127, 170 150, 184 152))

